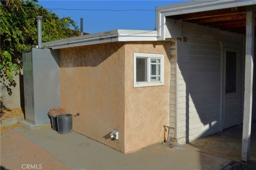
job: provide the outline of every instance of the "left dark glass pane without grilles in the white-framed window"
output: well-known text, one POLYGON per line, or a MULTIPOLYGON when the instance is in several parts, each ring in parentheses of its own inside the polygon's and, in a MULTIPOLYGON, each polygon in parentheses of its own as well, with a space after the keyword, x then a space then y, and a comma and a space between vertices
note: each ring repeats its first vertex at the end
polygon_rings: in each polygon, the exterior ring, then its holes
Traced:
POLYGON ((147 77, 147 58, 136 58, 136 81, 148 81, 147 77))

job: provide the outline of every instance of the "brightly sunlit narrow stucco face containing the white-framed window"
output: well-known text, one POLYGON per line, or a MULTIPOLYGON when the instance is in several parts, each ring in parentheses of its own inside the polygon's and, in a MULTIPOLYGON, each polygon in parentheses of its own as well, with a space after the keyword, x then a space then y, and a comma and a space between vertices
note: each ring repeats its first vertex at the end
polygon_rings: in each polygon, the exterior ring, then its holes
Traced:
POLYGON ((170 42, 125 44, 125 152, 164 140, 169 125, 170 42), (133 53, 164 54, 164 86, 133 87, 133 53))

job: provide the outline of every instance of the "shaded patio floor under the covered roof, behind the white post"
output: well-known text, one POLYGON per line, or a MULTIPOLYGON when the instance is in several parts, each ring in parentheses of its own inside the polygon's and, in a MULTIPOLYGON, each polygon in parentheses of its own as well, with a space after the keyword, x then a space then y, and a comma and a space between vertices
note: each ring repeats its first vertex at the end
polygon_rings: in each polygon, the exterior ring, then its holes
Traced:
MULTIPOLYGON (((222 132, 197 139, 191 143, 202 152, 222 158, 241 161, 243 124, 233 126, 222 132)), ((252 122, 250 164, 256 165, 256 121, 252 122)))

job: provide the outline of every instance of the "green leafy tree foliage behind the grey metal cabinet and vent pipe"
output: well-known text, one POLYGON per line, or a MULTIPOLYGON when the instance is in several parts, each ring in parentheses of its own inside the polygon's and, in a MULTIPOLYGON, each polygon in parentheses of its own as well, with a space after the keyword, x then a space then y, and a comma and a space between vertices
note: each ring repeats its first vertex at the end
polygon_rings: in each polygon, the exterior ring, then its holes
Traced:
POLYGON ((16 85, 13 77, 22 69, 22 51, 37 44, 37 25, 35 16, 43 16, 43 42, 77 36, 76 23, 70 18, 59 16, 39 5, 36 0, 0 0, 1 34, 1 83, 9 95, 16 85))

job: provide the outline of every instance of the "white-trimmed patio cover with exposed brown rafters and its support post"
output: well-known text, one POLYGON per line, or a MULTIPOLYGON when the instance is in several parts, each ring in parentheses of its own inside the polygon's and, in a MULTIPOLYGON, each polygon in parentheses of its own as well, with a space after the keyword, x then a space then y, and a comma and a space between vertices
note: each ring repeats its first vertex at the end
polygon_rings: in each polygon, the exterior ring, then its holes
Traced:
MULTIPOLYGON (((244 35, 242 160, 250 153, 253 108, 254 11, 256 1, 193 1, 157 8, 158 40, 214 35, 218 30, 244 35), (177 23, 179 21, 179 23, 177 23), (206 27, 205 27, 206 26, 206 27), (217 28, 217 29, 216 29, 217 28)), ((223 112, 223 107, 222 111, 223 112)), ((177 123, 177 122, 176 122, 177 123)), ((223 130, 222 125, 222 129, 223 130)), ((178 132, 177 132, 178 133, 178 132)))

